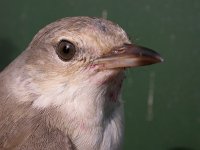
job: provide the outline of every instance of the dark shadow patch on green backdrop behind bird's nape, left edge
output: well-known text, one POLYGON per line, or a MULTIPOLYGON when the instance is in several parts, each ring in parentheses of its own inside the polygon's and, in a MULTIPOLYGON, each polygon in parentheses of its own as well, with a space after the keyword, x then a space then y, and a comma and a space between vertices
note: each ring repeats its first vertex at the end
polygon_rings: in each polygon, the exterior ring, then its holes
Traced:
POLYGON ((18 50, 11 39, 0 37, 0 71, 16 57, 18 50))

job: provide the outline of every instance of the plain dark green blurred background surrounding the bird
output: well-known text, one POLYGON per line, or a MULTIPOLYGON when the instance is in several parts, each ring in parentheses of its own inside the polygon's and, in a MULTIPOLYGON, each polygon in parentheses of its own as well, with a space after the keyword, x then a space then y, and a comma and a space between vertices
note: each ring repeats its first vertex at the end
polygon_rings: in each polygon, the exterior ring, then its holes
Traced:
POLYGON ((0 69, 66 16, 107 16, 162 64, 130 69, 124 150, 200 150, 199 0, 1 0, 0 69))

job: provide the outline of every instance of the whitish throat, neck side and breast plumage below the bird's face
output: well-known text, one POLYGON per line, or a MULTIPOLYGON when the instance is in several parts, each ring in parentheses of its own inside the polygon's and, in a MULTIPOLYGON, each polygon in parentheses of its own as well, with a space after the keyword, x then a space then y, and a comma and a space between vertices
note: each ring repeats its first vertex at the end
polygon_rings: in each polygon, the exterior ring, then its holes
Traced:
POLYGON ((37 85, 30 78, 18 77, 12 81, 12 85, 19 89, 14 93, 18 97, 16 101, 29 100, 34 109, 50 110, 45 120, 50 126, 63 131, 77 149, 107 150, 118 149, 122 142, 122 80, 123 75, 120 74, 105 80, 105 83, 85 80, 58 84, 54 80, 42 80, 37 85))

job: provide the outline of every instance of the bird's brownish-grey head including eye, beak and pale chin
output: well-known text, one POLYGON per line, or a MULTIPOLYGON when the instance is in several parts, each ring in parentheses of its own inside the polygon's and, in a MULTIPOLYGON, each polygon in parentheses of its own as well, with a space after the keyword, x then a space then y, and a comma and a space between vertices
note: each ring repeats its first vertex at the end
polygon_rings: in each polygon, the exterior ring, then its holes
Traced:
POLYGON ((161 61, 153 50, 132 44, 111 21, 64 18, 40 30, 15 60, 14 80, 18 94, 27 91, 38 97, 34 101, 38 107, 90 99, 88 95, 93 99, 107 95, 116 102, 126 68, 161 61))

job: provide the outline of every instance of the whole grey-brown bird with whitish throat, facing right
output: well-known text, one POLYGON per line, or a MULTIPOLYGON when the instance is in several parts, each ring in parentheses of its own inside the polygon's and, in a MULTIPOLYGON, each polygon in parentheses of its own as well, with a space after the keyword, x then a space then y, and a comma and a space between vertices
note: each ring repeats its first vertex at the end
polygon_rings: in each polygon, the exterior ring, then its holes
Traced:
POLYGON ((0 149, 122 149, 125 71, 162 61, 107 19, 50 23, 0 73, 0 149))

